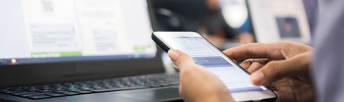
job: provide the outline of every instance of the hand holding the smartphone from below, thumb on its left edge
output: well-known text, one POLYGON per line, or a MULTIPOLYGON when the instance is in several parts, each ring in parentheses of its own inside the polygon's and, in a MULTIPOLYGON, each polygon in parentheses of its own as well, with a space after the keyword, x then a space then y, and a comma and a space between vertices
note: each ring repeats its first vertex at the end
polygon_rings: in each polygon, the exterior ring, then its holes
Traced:
POLYGON ((179 94, 185 101, 234 101, 221 80, 190 56, 175 49, 168 56, 179 70, 179 94))

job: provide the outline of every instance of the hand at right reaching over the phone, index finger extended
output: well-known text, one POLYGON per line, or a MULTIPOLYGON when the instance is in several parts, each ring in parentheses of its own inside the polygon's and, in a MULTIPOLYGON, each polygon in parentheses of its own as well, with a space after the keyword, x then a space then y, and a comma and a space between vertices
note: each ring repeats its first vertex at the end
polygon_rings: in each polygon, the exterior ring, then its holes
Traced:
POLYGON ((251 43, 230 48, 224 53, 251 74, 254 85, 275 88, 277 101, 314 101, 310 80, 312 47, 293 42, 251 43))

